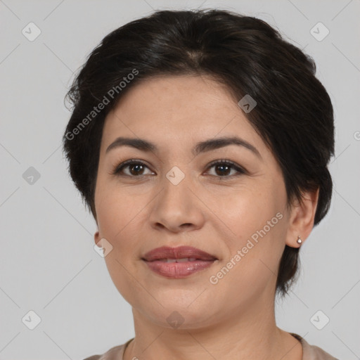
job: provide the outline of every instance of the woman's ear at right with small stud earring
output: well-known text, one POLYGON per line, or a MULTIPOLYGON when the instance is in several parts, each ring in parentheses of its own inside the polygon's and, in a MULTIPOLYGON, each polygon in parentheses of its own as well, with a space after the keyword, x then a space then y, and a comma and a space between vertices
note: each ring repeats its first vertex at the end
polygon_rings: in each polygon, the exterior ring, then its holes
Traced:
POLYGON ((302 193, 302 200, 292 205, 286 245, 291 248, 300 248, 297 243, 300 236, 302 243, 306 240, 314 227, 314 218, 319 200, 319 188, 316 191, 302 193))

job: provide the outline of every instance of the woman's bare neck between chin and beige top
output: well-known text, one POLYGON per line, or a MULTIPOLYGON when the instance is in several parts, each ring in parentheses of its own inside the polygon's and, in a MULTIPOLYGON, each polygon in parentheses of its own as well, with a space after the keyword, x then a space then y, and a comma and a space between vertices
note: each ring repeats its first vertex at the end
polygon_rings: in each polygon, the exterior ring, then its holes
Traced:
POLYGON ((245 308, 211 326, 177 329, 155 324, 133 308, 135 338, 124 360, 302 359, 300 342, 276 326, 274 303, 271 308, 245 308))

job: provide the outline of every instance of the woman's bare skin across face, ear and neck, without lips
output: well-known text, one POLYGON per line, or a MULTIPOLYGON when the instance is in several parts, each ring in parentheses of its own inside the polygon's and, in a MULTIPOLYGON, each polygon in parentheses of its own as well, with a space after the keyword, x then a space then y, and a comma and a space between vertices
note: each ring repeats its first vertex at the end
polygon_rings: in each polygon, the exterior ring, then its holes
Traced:
POLYGON ((300 342, 276 326, 274 295, 285 244, 298 247, 297 236, 309 236, 318 192, 304 193, 302 203, 287 208, 281 169, 245 115, 224 85, 179 76, 136 84, 105 119, 94 240, 113 245, 106 266, 133 309, 136 336, 125 360, 160 354, 178 360, 302 359, 300 342), (122 146, 105 153, 118 136, 146 139, 159 151, 122 146), (195 143, 222 136, 248 141, 261 158, 235 145, 191 152, 195 143), (130 159, 146 167, 111 174, 130 159), (209 167, 214 160, 230 160, 246 172, 221 172, 209 167), (174 166, 185 176, 177 185, 166 177, 174 166), (282 219, 216 285, 210 283, 278 212, 282 219), (218 260, 187 278, 165 278, 141 260, 162 245, 191 245, 218 260), (173 311, 184 319, 179 328, 167 322, 173 311))

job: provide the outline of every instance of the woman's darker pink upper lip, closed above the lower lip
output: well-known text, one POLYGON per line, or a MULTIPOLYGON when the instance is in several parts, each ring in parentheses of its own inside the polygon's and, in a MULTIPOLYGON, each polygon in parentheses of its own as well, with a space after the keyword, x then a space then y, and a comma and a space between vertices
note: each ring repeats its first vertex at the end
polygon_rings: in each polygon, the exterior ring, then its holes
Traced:
POLYGON ((193 248, 192 246, 178 246, 177 248, 162 246, 161 248, 155 248, 146 252, 142 259, 153 262, 160 259, 184 259, 186 257, 195 257, 195 259, 207 261, 217 260, 217 257, 214 257, 203 250, 193 248))

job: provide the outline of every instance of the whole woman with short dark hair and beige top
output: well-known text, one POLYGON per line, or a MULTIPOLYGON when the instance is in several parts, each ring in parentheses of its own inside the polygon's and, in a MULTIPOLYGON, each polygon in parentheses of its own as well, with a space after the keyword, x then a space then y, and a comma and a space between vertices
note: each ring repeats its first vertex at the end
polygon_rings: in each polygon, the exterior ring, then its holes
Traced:
POLYGON ((92 51, 64 150, 136 335, 87 360, 335 359, 274 314, 330 206, 333 108, 314 74, 229 11, 158 11, 92 51))

